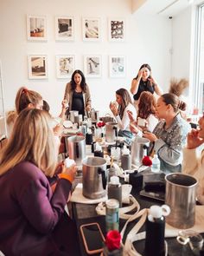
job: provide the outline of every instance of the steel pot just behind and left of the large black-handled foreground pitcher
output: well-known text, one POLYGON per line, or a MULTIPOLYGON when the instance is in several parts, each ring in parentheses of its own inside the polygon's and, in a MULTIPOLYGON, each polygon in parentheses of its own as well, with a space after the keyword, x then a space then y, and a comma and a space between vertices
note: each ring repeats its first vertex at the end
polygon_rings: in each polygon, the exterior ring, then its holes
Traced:
POLYGON ((73 159, 77 165, 81 165, 86 157, 86 140, 84 136, 74 135, 66 138, 66 148, 69 158, 73 159))

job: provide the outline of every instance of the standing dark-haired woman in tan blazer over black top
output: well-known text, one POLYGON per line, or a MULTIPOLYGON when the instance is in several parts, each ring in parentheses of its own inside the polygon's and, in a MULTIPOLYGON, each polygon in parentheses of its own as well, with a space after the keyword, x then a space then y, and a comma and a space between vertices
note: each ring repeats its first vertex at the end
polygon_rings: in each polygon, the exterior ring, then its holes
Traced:
POLYGON ((82 71, 73 72, 71 82, 67 83, 65 89, 64 100, 69 103, 69 110, 78 110, 83 116, 92 109, 90 91, 82 71))

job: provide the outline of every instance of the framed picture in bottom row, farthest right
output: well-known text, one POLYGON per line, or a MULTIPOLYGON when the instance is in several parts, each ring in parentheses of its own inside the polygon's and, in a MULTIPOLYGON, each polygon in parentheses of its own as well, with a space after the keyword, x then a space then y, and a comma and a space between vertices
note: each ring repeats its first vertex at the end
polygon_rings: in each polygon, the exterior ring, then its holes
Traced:
POLYGON ((126 74, 125 57, 109 56, 109 72, 111 77, 124 77, 126 74))

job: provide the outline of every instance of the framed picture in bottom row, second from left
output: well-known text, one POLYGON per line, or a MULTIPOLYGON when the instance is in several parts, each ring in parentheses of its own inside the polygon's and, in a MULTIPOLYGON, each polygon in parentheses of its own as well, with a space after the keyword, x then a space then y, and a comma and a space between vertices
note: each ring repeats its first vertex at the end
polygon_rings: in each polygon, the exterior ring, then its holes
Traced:
POLYGON ((75 69, 74 56, 56 56, 57 78, 70 78, 75 69))

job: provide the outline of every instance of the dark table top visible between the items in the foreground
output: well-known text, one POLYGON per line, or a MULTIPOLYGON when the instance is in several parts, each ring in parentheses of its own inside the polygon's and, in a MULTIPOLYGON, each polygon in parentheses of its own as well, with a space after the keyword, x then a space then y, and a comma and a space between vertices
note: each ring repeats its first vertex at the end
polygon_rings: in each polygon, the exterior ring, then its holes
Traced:
MULTIPOLYGON (((132 187, 131 194, 137 199, 141 209, 149 208, 152 205, 162 205, 163 202, 160 200, 154 200, 150 198, 144 198, 143 196, 139 195, 135 189, 132 187)), ((95 207, 97 204, 87 205, 87 204, 80 204, 80 203, 72 203, 72 214, 73 218, 76 220, 76 225, 79 230, 79 240, 80 240, 80 251, 81 255, 88 255, 86 253, 83 240, 80 234, 80 226, 87 223, 98 222, 102 232, 105 235, 105 216, 99 216, 96 211, 95 207)), ((119 230, 122 230, 124 223, 126 220, 119 220, 119 230)), ((132 221, 128 225, 126 232, 124 233, 124 240, 126 239, 126 234, 131 230, 131 228, 136 224, 135 221, 132 221)), ((144 231, 144 226, 142 227, 141 231, 144 231)), ((123 240, 123 242, 124 242, 123 240)), ((176 238, 168 238, 166 239, 168 243, 168 255, 169 256, 189 256, 195 255, 189 248, 189 246, 182 246, 177 241, 176 238)), ((137 249, 138 253, 144 255, 144 240, 140 240, 134 242, 134 246, 137 249)), ((94 254, 99 255, 99 254, 94 254)), ((202 254, 201 254, 202 255, 202 254)))

